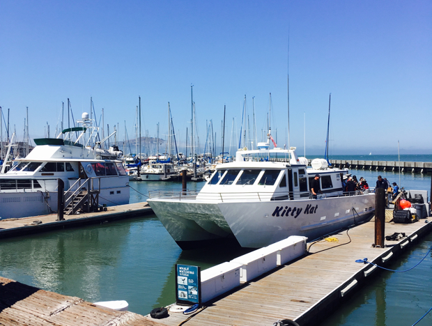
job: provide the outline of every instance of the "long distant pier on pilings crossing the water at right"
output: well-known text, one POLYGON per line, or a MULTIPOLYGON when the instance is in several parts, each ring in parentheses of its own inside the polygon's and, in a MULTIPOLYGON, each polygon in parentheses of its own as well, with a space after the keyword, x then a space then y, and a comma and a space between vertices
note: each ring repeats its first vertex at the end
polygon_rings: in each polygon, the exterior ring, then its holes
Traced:
MULTIPOLYGON (((310 163, 310 162, 309 162, 310 163)), ((367 161, 367 160, 330 160, 339 169, 359 169, 373 171, 396 171, 432 173, 432 162, 399 162, 399 161, 367 161)))

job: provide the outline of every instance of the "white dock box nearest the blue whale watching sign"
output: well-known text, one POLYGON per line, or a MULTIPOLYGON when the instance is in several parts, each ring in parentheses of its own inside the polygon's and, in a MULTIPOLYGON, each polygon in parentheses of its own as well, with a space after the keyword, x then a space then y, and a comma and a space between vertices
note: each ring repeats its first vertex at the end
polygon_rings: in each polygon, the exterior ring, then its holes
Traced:
POLYGON ((201 272, 201 302, 240 286, 240 264, 222 263, 201 272))

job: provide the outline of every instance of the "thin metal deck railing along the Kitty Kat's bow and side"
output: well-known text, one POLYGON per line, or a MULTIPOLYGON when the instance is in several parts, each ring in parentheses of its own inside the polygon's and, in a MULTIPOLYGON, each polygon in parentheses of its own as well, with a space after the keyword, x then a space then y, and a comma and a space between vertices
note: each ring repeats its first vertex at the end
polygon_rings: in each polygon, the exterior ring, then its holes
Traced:
MULTIPOLYGON (((317 199, 360 196, 372 194, 374 188, 356 190, 355 192, 329 192, 318 194, 317 199)), ((169 199, 199 199, 200 201, 286 201, 313 199, 310 192, 196 192, 191 190, 151 190, 148 192, 150 198, 169 199)))

